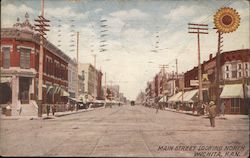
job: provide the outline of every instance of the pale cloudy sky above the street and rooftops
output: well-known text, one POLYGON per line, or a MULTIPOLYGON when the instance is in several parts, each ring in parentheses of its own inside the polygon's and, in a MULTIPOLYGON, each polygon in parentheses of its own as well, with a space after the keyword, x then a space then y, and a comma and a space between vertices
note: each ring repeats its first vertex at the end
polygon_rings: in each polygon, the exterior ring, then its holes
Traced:
MULTIPOLYGON (((11 27, 17 17, 23 21, 26 12, 33 23, 40 5, 40 0, 2 0, 1 27, 11 27)), ((79 31, 79 61, 93 64, 97 54, 97 68, 107 73, 108 82, 135 99, 159 65, 168 64, 169 72, 175 71, 176 58, 179 72, 198 65, 197 35, 188 33, 187 23, 209 25, 209 34, 201 35, 201 61, 215 55, 213 15, 223 6, 241 17, 239 28, 224 35, 223 51, 249 48, 249 2, 243 0, 45 0, 45 17, 51 21, 47 38, 75 58, 79 31), (105 32, 101 25, 107 25, 105 32), (103 44, 106 51, 100 52, 103 44)))

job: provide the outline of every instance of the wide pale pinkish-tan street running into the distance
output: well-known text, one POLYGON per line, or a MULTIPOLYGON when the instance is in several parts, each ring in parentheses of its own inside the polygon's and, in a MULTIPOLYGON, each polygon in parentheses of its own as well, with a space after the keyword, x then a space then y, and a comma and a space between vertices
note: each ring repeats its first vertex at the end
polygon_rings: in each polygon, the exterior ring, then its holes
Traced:
MULTIPOLYGON (((220 151, 219 156, 230 154, 225 148, 235 150, 236 157, 249 155, 247 118, 216 119, 212 128, 204 117, 162 110, 156 113, 140 105, 46 120, 6 119, 1 120, 0 129, 2 156, 194 157, 198 148, 220 151)), ((218 156, 212 154, 206 156, 218 156)))

